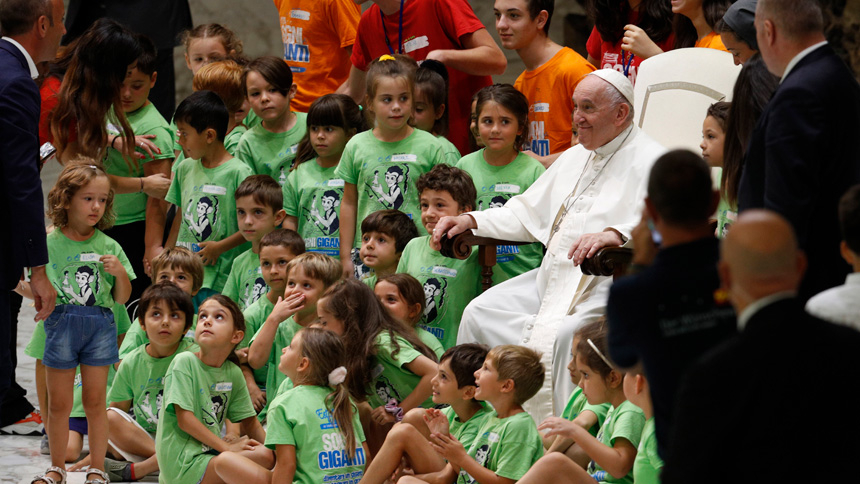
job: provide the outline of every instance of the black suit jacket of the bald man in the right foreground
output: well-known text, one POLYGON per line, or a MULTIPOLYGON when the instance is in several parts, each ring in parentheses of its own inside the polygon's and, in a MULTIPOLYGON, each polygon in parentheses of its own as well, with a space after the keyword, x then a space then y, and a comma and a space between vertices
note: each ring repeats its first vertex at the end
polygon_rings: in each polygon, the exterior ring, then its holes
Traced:
POLYGON ((856 481, 858 374, 860 332, 762 308, 687 374, 662 482, 856 481))

